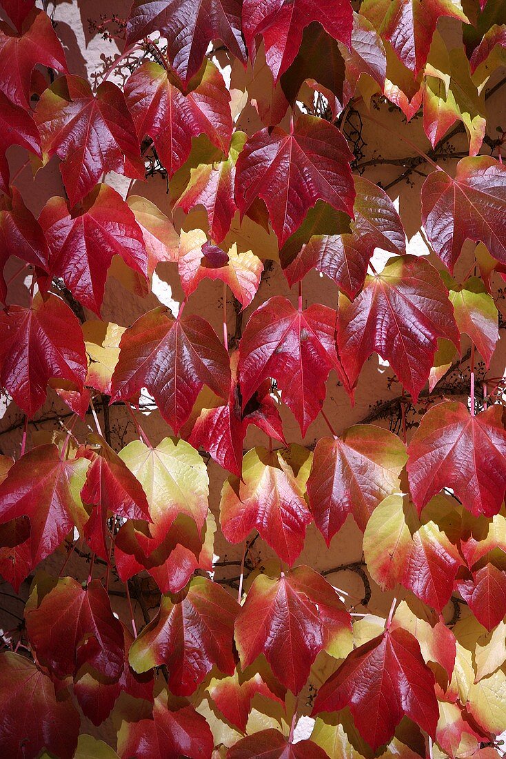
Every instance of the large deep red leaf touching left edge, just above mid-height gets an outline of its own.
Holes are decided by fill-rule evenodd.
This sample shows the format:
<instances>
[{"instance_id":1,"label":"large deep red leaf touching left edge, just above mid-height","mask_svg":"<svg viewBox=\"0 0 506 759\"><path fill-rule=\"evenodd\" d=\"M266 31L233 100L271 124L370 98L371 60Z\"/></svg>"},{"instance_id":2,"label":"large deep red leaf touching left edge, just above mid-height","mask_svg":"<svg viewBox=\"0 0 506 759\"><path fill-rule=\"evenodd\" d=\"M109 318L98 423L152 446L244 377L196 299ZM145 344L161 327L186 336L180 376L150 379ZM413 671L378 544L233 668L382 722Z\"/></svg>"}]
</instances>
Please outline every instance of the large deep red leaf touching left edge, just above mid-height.
<instances>
[{"instance_id":1,"label":"large deep red leaf touching left edge, just above mid-height","mask_svg":"<svg viewBox=\"0 0 506 759\"><path fill-rule=\"evenodd\" d=\"M52 378L77 389L86 378L83 332L74 313L55 295L40 294L31 308L11 306L0 315L0 379L17 405L33 417Z\"/></svg>"}]
</instances>

